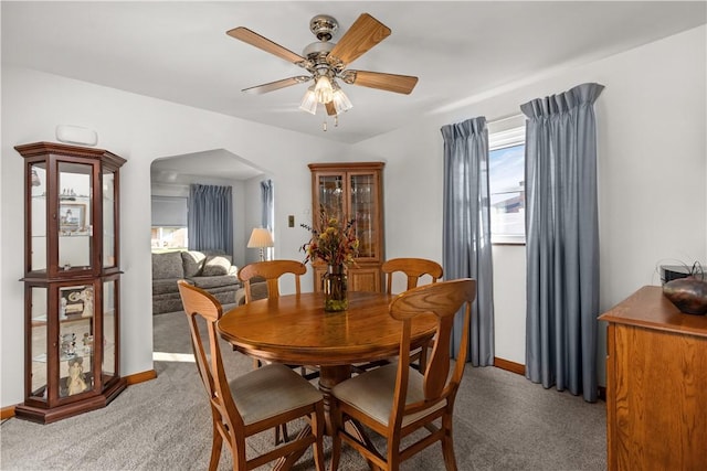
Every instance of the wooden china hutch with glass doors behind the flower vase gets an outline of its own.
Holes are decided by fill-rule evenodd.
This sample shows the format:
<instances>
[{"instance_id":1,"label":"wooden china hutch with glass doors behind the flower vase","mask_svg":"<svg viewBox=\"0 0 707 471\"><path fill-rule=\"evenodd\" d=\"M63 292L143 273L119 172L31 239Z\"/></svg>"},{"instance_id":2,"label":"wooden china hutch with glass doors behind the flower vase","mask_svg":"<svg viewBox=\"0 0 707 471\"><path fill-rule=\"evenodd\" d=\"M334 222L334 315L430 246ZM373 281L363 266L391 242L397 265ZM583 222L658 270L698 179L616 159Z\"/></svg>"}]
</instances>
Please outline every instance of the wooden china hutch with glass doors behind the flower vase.
<instances>
[{"instance_id":1,"label":"wooden china hutch with glass doors behind the flower vase","mask_svg":"<svg viewBox=\"0 0 707 471\"><path fill-rule=\"evenodd\" d=\"M324 207L339 221L356 220L359 254L348 268L349 291L381 291L384 260L383 162L310 163L312 216ZM314 290L321 290L326 265L313 264Z\"/></svg>"}]
</instances>

